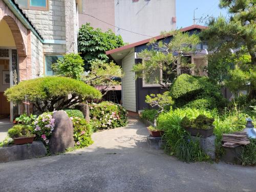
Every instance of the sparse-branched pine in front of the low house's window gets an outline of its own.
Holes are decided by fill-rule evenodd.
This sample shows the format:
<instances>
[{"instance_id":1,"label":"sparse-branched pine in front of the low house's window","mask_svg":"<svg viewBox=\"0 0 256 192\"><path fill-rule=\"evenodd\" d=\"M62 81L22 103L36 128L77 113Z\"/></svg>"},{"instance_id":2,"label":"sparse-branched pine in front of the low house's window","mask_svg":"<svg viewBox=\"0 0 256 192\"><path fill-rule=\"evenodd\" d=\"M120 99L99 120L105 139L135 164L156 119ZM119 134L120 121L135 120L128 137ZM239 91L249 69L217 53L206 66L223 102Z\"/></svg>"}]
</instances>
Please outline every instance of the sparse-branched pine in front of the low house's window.
<instances>
[{"instance_id":1,"label":"sparse-branched pine in front of the low house's window","mask_svg":"<svg viewBox=\"0 0 256 192\"><path fill-rule=\"evenodd\" d=\"M196 45L199 44L199 37L196 34L183 33L180 30L164 32L163 36L173 36L173 39L166 43L165 39L157 41L152 39L148 44L152 46L152 50L143 50L139 57L142 62L133 66L136 77L151 78L152 74L162 70L163 78L155 77L155 80L168 87L166 82L170 81L170 77L177 76L182 67L192 68L194 65L187 63L185 59L181 59L184 53L193 53ZM163 82L163 83L161 83Z\"/></svg>"}]
</instances>

